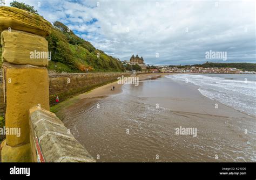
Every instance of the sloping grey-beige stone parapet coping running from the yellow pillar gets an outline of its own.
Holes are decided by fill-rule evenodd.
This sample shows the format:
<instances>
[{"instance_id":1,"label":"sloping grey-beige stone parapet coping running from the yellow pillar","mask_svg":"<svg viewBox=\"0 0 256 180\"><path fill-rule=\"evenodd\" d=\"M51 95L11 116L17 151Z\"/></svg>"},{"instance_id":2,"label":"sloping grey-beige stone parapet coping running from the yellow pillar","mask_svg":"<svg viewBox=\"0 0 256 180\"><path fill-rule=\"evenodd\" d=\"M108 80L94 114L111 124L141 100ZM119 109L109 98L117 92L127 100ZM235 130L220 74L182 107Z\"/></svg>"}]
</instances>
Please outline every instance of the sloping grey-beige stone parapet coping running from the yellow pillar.
<instances>
[{"instance_id":1,"label":"sloping grey-beige stone parapet coping running from the yellow pillar","mask_svg":"<svg viewBox=\"0 0 256 180\"><path fill-rule=\"evenodd\" d=\"M34 162L96 162L54 113L33 107L29 114Z\"/></svg>"}]
</instances>

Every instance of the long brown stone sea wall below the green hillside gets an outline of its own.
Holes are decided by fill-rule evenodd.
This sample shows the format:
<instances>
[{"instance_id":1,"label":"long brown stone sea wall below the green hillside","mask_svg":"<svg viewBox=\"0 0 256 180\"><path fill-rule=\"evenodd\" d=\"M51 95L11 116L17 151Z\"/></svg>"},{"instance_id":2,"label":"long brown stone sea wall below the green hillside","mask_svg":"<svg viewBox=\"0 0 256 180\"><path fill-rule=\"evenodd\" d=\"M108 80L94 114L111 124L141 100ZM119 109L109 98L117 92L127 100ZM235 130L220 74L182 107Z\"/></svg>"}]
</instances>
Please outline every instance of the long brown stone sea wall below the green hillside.
<instances>
[{"instance_id":1,"label":"long brown stone sea wall below the green hillside","mask_svg":"<svg viewBox=\"0 0 256 180\"><path fill-rule=\"evenodd\" d=\"M116 81L119 76L130 73L87 73L87 74L49 74L50 105L55 104L58 95L60 102L89 91L100 85ZM0 76L0 116L5 113L2 76Z\"/></svg>"}]
</instances>

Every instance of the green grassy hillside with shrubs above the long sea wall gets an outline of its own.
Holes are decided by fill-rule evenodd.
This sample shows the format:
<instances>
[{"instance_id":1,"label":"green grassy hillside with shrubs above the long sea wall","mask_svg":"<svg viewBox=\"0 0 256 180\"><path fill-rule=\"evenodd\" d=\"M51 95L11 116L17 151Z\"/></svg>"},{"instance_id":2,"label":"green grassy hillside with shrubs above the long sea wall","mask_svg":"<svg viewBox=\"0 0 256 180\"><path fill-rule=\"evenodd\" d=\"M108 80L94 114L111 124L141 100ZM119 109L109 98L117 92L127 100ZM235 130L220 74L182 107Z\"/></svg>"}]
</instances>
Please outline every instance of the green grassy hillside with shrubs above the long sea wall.
<instances>
[{"instance_id":1,"label":"green grassy hillside with shrubs above the long sea wall","mask_svg":"<svg viewBox=\"0 0 256 180\"><path fill-rule=\"evenodd\" d=\"M93 72L124 71L123 64L112 56L93 47L90 42L77 37L67 26L56 21L49 37L49 51L52 59L49 69L66 71L69 73L84 72L86 69Z\"/></svg>"}]
</instances>

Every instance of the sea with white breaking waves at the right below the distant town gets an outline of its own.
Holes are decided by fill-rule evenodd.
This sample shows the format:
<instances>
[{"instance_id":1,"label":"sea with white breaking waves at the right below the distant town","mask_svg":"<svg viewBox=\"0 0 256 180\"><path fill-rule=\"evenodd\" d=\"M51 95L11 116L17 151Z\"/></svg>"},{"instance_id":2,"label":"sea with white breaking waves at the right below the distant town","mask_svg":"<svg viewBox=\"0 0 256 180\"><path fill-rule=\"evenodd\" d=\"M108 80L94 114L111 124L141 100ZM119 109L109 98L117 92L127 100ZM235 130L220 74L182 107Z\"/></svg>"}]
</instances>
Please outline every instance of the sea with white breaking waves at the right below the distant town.
<instances>
[{"instance_id":1,"label":"sea with white breaking waves at the right below the distant town","mask_svg":"<svg viewBox=\"0 0 256 180\"><path fill-rule=\"evenodd\" d=\"M207 98L256 117L255 74L175 74L166 77L193 83Z\"/></svg>"}]
</instances>

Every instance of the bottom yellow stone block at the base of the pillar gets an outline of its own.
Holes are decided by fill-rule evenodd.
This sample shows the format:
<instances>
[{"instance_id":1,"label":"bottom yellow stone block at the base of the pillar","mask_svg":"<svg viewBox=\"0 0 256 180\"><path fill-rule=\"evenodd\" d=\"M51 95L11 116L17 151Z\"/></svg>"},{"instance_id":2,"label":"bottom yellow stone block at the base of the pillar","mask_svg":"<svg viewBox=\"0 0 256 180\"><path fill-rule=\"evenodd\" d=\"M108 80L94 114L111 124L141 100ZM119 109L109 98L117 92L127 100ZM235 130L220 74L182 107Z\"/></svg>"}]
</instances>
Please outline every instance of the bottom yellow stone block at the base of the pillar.
<instances>
[{"instance_id":1,"label":"bottom yellow stone block at the base of the pillar","mask_svg":"<svg viewBox=\"0 0 256 180\"><path fill-rule=\"evenodd\" d=\"M4 140L2 143L2 162L31 162L30 143L18 147L6 145Z\"/></svg>"}]
</instances>

